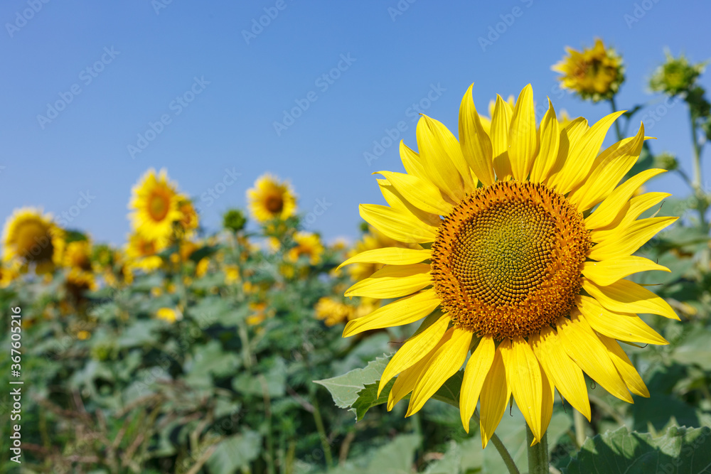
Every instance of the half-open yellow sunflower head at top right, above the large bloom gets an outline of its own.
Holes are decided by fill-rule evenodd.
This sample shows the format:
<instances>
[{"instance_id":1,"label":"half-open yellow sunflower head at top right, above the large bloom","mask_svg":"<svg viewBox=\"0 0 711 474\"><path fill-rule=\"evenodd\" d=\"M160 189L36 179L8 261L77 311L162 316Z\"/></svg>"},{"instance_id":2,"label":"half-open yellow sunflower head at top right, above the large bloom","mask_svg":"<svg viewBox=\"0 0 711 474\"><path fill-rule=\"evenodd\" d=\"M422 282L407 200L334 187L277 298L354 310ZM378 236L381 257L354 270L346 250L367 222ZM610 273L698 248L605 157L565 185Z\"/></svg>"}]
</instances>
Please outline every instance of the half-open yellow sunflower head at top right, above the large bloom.
<instances>
[{"instance_id":1,"label":"half-open yellow sunflower head at top right, above the large bloom","mask_svg":"<svg viewBox=\"0 0 711 474\"><path fill-rule=\"evenodd\" d=\"M624 82L622 58L614 48L605 48L602 40L596 38L592 48L565 49L568 55L551 68L562 73L559 80L563 89L573 90L582 99L593 102L614 97Z\"/></svg>"}]
</instances>

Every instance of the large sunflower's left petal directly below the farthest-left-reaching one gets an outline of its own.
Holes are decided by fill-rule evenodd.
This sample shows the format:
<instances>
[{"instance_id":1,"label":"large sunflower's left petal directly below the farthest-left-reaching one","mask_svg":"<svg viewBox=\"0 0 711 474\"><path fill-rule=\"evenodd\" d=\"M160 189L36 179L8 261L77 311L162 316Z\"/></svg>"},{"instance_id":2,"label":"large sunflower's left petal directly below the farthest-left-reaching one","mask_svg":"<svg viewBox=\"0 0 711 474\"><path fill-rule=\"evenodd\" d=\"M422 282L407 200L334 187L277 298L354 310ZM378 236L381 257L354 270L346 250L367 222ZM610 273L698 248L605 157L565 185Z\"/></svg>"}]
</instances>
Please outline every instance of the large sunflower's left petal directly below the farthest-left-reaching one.
<instances>
[{"instance_id":1,"label":"large sunflower's left petal directly below the farthest-left-reaching one","mask_svg":"<svg viewBox=\"0 0 711 474\"><path fill-rule=\"evenodd\" d=\"M388 265L368 278L358 281L346 291L346 296L368 298L399 298L432 284L429 265Z\"/></svg>"}]
</instances>

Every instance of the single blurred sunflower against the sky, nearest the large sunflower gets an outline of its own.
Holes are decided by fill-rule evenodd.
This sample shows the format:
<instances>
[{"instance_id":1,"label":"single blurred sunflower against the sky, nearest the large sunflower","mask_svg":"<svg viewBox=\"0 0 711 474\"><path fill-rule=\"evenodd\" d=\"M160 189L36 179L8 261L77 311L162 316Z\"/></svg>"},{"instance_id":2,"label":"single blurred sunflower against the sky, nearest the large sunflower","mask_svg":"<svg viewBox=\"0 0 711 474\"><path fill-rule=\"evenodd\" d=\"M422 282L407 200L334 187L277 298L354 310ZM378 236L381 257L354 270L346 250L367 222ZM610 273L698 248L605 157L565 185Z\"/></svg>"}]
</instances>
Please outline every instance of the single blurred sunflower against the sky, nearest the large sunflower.
<instances>
[{"instance_id":1,"label":"single blurred sunflower against the sky, nearest the large sunflower","mask_svg":"<svg viewBox=\"0 0 711 474\"><path fill-rule=\"evenodd\" d=\"M269 173L257 178L255 187L247 190L247 200L257 222L286 219L296 212L296 196L292 187Z\"/></svg>"}]
</instances>

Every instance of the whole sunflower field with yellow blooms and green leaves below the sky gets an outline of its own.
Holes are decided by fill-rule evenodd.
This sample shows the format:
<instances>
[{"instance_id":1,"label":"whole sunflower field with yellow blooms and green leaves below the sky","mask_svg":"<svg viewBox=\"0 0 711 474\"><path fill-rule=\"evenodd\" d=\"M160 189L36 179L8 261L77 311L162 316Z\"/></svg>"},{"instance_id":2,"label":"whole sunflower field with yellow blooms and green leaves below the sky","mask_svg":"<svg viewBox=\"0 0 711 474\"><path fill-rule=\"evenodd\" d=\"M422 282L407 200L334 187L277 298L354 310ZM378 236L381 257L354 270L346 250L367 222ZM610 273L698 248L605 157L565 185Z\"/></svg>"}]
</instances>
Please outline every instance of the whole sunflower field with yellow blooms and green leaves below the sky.
<instances>
[{"instance_id":1,"label":"whole sunflower field with yellow blooms and green leaves below the sky","mask_svg":"<svg viewBox=\"0 0 711 474\"><path fill-rule=\"evenodd\" d=\"M405 173L373 177L387 205L360 205L355 242L305 230L271 173L208 233L148 169L118 247L18 208L0 470L711 473L704 67L668 55L648 85L688 109L693 156L618 108L602 40L552 66L609 104L594 124L530 85L479 108L470 87L458 130L423 114ZM665 172L688 194L645 189Z\"/></svg>"}]
</instances>

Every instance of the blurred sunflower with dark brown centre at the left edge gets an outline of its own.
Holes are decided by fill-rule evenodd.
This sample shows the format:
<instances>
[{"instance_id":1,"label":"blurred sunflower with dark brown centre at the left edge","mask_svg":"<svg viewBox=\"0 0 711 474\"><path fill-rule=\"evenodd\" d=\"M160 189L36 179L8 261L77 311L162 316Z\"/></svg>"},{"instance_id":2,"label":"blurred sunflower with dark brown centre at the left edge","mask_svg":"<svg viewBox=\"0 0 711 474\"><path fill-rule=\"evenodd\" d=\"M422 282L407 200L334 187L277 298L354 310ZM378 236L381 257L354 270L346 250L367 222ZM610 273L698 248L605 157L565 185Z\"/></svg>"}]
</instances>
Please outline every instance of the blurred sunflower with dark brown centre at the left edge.
<instances>
[{"instance_id":1,"label":"blurred sunflower with dark brown centre at the left edge","mask_svg":"<svg viewBox=\"0 0 711 474\"><path fill-rule=\"evenodd\" d=\"M62 262L65 232L41 209L16 209L3 230L3 261L35 264L38 274L53 271Z\"/></svg>"}]
</instances>

